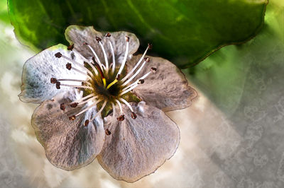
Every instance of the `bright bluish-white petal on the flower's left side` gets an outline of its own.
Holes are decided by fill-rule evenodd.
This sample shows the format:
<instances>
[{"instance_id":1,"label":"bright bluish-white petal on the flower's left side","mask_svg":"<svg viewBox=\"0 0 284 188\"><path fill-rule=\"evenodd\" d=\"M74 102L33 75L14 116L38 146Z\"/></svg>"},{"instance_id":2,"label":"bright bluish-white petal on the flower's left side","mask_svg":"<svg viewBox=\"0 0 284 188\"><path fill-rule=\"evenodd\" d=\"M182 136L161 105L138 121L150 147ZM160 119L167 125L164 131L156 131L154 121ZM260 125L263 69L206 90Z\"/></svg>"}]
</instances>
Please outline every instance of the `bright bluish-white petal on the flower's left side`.
<instances>
[{"instance_id":1,"label":"bright bluish-white petal on the flower's left side","mask_svg":"<svg viewBox=\"0 0 284 188\"><path fill-rule=\"evenodd\" d=\"M40 103L53 98L60 92L66 92L70 88L61 87L56 89L50 83L50 78L70 78L85 79L86 77L75 71L68 71L65 68L67 61L63 58L56 58L55 53L60 52L67 57L71 57L74 52L67 51L64 45L55 45L28 59L23 66L22 86L20 99L23 102ZM80 60L80 56L75 56Z\"/></svg>"}]
</instances>

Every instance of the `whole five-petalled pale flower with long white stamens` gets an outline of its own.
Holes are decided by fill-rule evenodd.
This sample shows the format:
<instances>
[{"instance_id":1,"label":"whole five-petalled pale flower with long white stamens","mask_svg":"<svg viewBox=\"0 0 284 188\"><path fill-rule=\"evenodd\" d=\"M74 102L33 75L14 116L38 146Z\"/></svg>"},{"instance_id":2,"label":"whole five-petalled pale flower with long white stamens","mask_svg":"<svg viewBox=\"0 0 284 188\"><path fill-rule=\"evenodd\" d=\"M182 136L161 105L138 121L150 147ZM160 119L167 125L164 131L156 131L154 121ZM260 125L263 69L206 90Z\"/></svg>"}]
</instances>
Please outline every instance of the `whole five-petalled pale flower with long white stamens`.
<instances>
[{"instance_id":1,"label":"whole five-petalled pale flower with long white stamens","mask_svg":"<svg viewBox=\"0 0 284 188\"><path fill-rule=\"evenodd\" d=\"M55 45L28 59L20 99L40 103L32 117L50 163L64 170L97 157L117 180L135 182L178 148L180 132L165 112L197 96L181 71L159 57L134 56L127 32L71 25L69 47Z\"/></svg>"}]
</instances>

